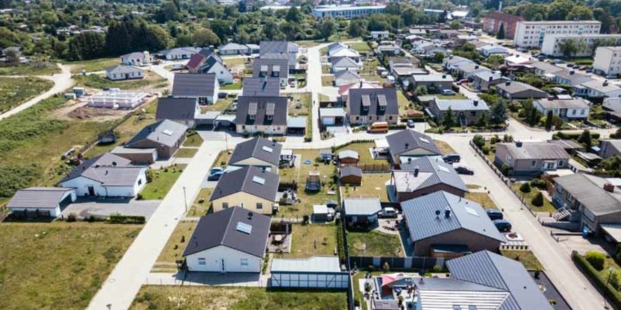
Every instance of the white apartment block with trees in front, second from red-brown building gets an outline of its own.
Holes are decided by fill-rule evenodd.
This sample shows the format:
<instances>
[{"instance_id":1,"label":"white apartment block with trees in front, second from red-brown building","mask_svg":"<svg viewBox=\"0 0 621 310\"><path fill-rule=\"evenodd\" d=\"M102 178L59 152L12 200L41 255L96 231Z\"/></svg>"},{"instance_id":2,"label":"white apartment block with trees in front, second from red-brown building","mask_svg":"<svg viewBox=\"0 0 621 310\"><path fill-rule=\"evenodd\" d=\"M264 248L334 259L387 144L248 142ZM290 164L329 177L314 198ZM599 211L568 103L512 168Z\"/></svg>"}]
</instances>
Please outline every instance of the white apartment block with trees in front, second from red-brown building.
<instances>
[{"instance_id":1,"label":"white apartment block with trees in front, second from red-brown building","mask_svg":"<svg viewBox=\"0 0 621 310\"><path fill-rule=\"evenodd\" d=\"M563 56L561 49L562 42L573 40L576 43L584 45L578 52L573 54L576 57L593 56L593 43L598 40L615 39L617 43L621 42L621 34L551 34L544 37L541 45L541 53L549 56Z\"/></svg>"}]
</instances>

